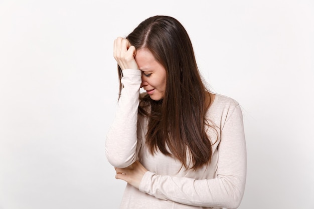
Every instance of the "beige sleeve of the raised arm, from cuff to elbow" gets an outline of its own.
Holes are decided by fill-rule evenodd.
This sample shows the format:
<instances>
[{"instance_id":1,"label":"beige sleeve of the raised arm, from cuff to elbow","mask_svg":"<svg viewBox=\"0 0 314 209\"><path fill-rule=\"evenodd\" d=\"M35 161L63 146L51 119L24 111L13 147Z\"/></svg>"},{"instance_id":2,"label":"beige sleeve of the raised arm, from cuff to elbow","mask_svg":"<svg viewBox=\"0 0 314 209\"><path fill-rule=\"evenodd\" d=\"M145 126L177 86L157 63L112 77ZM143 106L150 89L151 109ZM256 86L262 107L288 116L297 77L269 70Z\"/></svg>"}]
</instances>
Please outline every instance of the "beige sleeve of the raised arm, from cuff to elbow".
<instances>
[{"instance_id":1,"label":"beige sleeve of the raised arm, from cuff to elbow","mask_svg":"<svg viewBox=\"0 0 314 209\"><path fill-rule=\"evenodd\" d=\"M136 130L141 71L123 70L121 83L123 88L115 119L109 128L105 144L107 159L115 167L127 167L137 157Z\"/></svg>"}]
</instances>

